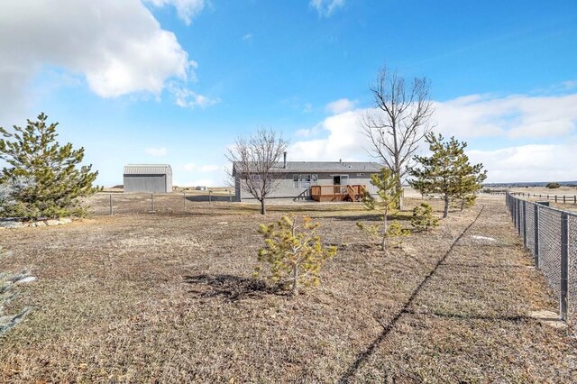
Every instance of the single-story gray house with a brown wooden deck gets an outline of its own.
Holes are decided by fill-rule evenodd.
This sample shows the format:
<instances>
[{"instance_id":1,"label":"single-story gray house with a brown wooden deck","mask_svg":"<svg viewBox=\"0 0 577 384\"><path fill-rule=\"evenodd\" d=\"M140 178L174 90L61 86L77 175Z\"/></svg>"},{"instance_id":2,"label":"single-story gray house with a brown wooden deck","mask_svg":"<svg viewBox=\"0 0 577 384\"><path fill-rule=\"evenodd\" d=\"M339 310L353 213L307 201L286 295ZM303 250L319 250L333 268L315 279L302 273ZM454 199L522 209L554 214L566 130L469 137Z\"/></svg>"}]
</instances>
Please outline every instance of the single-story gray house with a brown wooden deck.
<instances>
[{"instance_id":1,"label":"single-story gray house with a brown wooden deck","mask_svg":"<svg viewBox=\"0 0 577 384\"><path fill-rule=\"evenodd\" d=\"M286 159L286 158L285 158ZM279 184L267 197L292 201L360 201L365 191L374 195L371 174L380 172L376 162L359 161L283 161L273 169ZM233 164L236 201L256 199L246 190L238 164Z\"/></svg>"}]
</instances>

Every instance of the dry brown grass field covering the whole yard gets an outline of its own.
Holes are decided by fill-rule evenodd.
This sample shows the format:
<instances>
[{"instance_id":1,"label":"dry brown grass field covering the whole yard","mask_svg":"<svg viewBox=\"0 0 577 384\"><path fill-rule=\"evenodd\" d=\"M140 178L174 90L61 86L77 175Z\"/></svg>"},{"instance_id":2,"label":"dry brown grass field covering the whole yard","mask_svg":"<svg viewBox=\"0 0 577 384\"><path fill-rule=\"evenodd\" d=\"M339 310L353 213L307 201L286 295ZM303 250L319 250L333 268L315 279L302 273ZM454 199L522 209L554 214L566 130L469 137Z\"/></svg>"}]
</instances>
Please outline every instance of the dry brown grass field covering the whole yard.
<instances>
[{"instance_id":1,"label":"dry brown grass field covering the whole yard","mask_svg":"<svg viewBox=\"0 0 577 384\"><path fill-rule=\"evenodd\" d=\"M106 216L106 198L73 224L0 231L2 269L38 278L5 308L33 309L0 337L0 382L577 381L572 331L531 315L557 305L502 197L386 256L356 228L377 220L359 204L262 217L160 198L149 214L142 197ZM258 224L289 210L339 247L298 297L251 279Z\"/></svg>"}]
</instances>

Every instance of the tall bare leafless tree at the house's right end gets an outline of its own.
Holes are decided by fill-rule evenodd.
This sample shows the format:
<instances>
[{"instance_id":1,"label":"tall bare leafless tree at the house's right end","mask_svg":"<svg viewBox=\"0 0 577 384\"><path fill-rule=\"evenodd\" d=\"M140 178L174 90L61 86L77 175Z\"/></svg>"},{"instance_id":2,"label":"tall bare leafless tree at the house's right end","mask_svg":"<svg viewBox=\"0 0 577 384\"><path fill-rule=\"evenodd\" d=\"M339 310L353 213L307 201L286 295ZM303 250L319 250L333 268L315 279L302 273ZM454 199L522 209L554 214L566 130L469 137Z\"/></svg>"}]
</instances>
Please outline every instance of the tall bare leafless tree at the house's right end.
<instances>
[{"instance_id":1,"label":"tall bare leafless tree at the house's right end","mask_svg":"<svg viewBox=\"0 0 577 384\"><path fill-rule=\"evenodd\" d=\"M434 106L429 89L428 79L415 78L408 87L405 78L387 67L380 69L371 86L377 111L362 116L362 133L371 141L371 154L393 171L398 191L418 142L431 131L429 118ZM403 208L401 194L397 206Z\"/></svg>"}]
</instances>

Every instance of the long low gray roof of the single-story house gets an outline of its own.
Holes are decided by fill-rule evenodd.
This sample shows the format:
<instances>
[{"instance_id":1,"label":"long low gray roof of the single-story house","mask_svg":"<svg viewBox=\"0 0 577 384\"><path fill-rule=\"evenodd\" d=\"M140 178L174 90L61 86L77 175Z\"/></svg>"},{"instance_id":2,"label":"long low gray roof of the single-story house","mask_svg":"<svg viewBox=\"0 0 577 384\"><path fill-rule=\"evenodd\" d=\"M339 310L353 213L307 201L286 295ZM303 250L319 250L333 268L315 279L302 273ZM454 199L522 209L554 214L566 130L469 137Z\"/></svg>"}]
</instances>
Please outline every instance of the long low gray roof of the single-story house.
<instances>
[{"instance_id":1,"label":"long low gray roof of the single-story house","mask_svg":"<svg viewBox=\"0 0 577 384\"><path fill-rule=\"evenodd\" d=\"M379 172L380 169L382 165L370 161L287 161L286 168L283 162L278 162L273 172Z\"/></svg>"}]
</instances>

